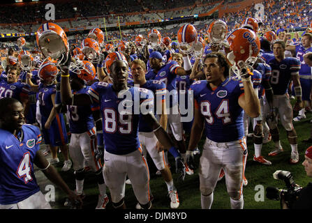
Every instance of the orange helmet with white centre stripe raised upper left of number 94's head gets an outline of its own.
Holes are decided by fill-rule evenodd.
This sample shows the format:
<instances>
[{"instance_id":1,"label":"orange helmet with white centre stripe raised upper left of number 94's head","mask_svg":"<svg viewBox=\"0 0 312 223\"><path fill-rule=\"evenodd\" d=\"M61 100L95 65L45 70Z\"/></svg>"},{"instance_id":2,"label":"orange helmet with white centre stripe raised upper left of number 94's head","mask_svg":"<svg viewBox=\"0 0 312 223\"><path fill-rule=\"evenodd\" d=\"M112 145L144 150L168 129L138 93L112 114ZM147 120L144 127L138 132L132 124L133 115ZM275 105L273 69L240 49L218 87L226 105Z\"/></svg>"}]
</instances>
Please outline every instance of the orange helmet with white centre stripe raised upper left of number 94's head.
<instances>
[{"instance_id":1,"label":"orange helmet with white centre stripe raised upper left of number 94's head","mask_svg":"<svg viewBox=\"0 0 312 223\"><path fill-rule=\"evenodd\" d=\"M192 24L185 24L181 26L178 31L178 44L184 54L193 53L193 44L196 43L198 33ZM186 49L181 49L186 47Z\"/></svg>"}]
</instances>

